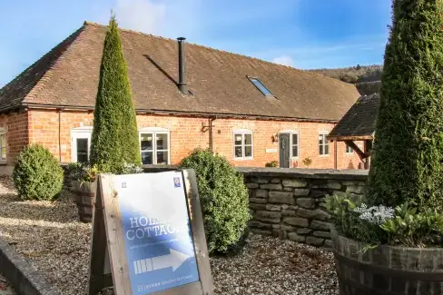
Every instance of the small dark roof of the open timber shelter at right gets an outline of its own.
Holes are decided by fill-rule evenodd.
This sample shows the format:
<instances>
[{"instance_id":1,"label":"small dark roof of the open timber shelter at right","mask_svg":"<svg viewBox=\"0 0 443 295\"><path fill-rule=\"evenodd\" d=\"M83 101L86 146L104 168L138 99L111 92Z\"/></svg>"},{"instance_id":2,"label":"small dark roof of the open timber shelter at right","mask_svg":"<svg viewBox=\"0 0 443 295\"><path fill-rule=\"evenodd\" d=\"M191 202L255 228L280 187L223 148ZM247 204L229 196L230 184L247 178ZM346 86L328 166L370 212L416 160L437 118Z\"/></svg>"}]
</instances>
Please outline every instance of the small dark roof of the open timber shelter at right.
<instances>
[{"instance_id":1,"label":"small dark roof of the open timber shelter at right","mask_svg":"<svg viewBox=\"0 0 443 295\"><path fill-rule=\"evenodd\" d=\"M361 96L335 125L328 138L373 136L378 109L379 93Z\"/></svg>"}]
</instances>

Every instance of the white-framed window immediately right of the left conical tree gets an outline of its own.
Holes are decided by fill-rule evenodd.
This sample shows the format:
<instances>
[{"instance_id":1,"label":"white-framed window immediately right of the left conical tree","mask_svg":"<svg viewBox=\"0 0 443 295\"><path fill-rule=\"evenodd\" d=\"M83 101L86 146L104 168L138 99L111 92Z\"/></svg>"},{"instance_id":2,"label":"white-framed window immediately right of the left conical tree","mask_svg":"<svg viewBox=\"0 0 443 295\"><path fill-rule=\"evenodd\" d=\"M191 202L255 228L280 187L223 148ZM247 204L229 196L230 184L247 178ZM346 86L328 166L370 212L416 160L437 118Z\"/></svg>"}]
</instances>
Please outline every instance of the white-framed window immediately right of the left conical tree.
<instances>
[{"instance_id":1,"label":"white-framed window immediately right of the left conical tree","mask_svg":"<svg viewBox=\"0 0 443 295\"><path fill-rule=\"evenodd\" d=\"M170 132L160 127L139 130L142 163L169 164L171 161Z\"/></svg>"}]
</instances>

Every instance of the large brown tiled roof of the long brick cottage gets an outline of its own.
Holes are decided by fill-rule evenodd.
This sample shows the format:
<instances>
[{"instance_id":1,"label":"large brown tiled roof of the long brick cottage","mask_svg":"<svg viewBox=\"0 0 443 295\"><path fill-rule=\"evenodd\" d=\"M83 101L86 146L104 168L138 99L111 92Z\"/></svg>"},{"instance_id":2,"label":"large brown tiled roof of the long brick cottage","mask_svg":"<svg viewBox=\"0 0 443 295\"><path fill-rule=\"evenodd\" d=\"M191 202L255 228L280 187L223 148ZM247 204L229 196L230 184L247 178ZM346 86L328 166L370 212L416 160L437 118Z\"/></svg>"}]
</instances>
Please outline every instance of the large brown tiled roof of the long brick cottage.
<instances>
[{"instance_id":1,"label":"large brown tiled roof of the long brick cottage","mask_svg":"<svg viewBox=\"0 0 443 295\"><path fill-rule=\"evenodd\" d=\"M106 29L85 23L0 91L0 110L18 103L94 107ZM359 97L352 84L196 44L185 45L193 95L183 95L176 40L122 29L121 36L138 110L338 121Z\"/></svg>"}]
</instances>

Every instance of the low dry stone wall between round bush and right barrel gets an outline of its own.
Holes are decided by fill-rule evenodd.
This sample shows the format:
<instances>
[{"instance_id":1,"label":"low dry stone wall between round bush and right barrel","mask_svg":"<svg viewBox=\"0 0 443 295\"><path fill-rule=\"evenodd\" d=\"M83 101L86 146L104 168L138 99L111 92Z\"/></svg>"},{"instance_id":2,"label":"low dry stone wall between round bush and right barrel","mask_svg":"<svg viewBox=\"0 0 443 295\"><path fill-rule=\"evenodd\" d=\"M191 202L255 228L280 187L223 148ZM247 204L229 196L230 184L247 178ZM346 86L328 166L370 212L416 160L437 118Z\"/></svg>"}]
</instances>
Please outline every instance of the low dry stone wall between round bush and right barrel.
<instances>
[{"instance_id":1,"label":"low dry stone wall between round bush and right barrel","mask_svg":"<svg viewBox=\"0 0 443 295\"><path fill-rule=\"evenodd\" d=\"M366 190L368 172L281 168L239 168L250 192L251 231L330 247L325 196Z\"/></svg>"}]
</instances>

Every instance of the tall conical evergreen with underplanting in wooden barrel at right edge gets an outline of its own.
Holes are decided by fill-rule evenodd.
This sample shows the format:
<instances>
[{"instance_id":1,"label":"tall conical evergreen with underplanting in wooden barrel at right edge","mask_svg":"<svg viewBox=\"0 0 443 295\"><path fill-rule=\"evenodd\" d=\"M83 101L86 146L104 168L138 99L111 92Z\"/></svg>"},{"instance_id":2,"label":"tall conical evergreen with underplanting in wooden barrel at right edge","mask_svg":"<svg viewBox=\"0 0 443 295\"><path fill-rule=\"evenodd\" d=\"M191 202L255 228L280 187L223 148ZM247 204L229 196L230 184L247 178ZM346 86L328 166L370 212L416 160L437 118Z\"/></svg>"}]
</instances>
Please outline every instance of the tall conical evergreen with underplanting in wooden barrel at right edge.
<instances>
[{"instance_id":1,"label":"tall conical evergreen with underplanting in wooden barrel at right edge","mask_svg":"<svg viewBox=\"0 0 443 295\"><path fill-rule=\"evenodd\" d=\"M327 199L342 295L443 294L443 5L392 10L368 192Z\"/></svg>"}]
</instances>

